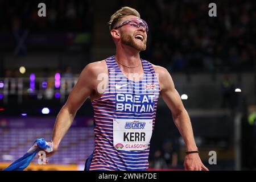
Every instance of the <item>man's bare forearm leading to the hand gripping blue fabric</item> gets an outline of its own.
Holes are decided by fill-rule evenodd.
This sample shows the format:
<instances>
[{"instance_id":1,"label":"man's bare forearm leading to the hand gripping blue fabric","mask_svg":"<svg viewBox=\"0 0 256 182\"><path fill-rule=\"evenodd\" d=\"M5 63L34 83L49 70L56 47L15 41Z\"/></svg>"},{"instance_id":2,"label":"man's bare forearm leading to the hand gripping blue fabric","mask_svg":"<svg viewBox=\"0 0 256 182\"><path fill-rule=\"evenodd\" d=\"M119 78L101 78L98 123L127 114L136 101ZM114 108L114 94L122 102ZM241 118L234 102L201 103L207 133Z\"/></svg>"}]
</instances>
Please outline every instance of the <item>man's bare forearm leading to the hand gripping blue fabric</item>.
<instances>
[{"instance_id":1,"label":"man's bare forearm leading to the hand gripping blue fabric","mask_svg":"<svg viewBox=\"0 0 256 182\"><path fill-rule=\"evenodd\" d=\"M67 133L69 127L72 125L75 114L72 114L67 107L63 107L57 115L55 126L53 129L52 142L57 148L61 139Z\"/></svg>"}]
</instances>

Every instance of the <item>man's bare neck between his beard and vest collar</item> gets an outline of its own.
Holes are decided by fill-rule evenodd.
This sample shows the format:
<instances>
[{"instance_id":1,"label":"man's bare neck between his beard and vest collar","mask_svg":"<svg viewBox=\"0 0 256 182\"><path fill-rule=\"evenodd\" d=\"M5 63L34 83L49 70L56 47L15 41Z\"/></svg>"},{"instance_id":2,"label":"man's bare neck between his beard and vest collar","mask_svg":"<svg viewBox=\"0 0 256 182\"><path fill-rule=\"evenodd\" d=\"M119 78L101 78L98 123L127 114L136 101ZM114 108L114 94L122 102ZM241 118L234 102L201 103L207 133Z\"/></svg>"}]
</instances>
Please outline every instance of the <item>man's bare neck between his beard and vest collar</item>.
<instances>
[{"instance_id":1,"label":"man's bare neck between his beard and vest collar","mask_svg":"<svg viewBox=\"0 0 256 182\"><path fill-rule=\"evenodd\" d=\"M115 57L119 63L128 67L136 67L141 63L139 51L131 48L130 46L122 45L117 46L115 50Z\"/></svg>"}]
</instances>

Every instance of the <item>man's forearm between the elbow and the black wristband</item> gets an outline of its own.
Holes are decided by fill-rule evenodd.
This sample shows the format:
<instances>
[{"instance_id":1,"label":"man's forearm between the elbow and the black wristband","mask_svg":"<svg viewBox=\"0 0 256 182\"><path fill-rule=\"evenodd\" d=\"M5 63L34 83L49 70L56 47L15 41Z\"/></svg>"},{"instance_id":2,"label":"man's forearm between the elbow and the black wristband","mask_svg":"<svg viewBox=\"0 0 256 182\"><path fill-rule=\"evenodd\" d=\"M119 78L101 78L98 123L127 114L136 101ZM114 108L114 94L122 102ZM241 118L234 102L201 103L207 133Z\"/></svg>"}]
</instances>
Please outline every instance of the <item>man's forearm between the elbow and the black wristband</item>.
<instances>
[{"instance_id":1,"label":"man's forearm between the elbow and the black wristband","mask_svg":"<svg viewBox=\"0 0 256 182\"><path fill-rule=\"evenodd\" d=\"M187 147L187 151L197 150L196 142L193 136L193 130L191 121L189 119L189 115L185 109L180 111L179 114L173 115L175 125L179 130L185 145Z\"/></svg>"}]
</instances>

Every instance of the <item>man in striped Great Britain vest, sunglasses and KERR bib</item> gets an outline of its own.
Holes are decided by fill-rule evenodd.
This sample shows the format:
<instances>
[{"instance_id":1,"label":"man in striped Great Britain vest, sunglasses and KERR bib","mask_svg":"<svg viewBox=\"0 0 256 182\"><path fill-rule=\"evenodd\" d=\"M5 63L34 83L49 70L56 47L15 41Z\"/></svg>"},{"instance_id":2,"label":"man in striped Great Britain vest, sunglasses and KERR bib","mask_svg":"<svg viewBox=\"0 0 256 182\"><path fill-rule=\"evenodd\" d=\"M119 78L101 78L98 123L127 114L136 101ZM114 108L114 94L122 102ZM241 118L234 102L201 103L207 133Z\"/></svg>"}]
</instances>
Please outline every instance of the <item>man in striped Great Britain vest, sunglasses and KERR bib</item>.
<instances>
[{"instance_id":1,"label":"man in striped Great Britain vest, sunglasses and KERR bib","mask_svg":"<svg viewBox=\"0 0 256 182\"><path fill-rule=\"evenodd\" d=\"M186 170L208 170L199 158L187 111L168 71L142 60L148 26L138 11L122 7L110 18L115 56L86 65L53 129L53 152L71 126L76 111L90 97L95 147L86 170L145 170L156 104L163 97L187 146ZM103 81L102 81L103 80Z\"/></svg>"}]
</instances>

